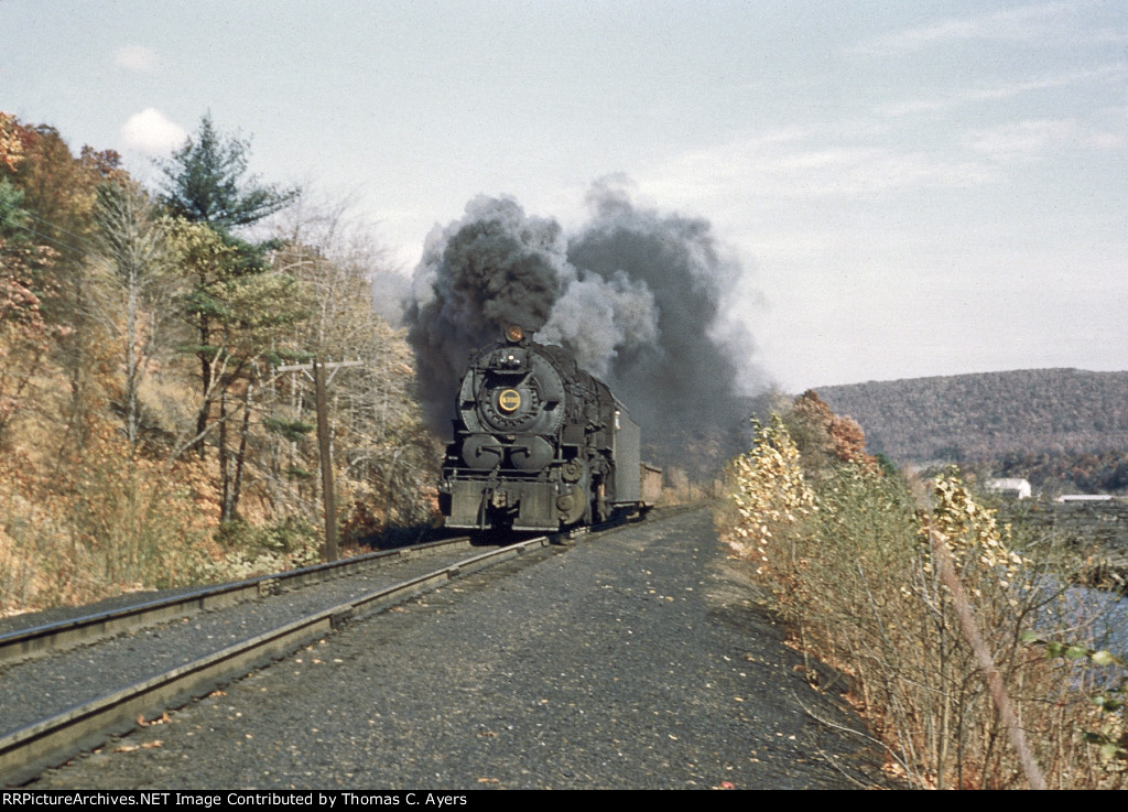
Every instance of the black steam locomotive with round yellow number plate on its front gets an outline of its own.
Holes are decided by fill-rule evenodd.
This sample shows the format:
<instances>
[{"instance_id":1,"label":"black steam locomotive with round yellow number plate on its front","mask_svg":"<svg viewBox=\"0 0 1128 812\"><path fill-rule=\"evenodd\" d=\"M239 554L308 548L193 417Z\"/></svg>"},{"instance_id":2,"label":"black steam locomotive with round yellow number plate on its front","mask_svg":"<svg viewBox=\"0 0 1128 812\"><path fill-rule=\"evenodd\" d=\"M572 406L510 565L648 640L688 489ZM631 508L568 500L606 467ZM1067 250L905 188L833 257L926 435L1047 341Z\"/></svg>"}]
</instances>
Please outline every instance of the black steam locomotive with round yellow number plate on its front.
<instances>
[{"instance_id":1,"label":"black steam locomotive with round yellow number plate on its front","mask_svg":"<svg viewBox=\"0 0 1128 812\"><path fill-rule=\"evenodd\" d=\"M455 407L439 485L449 528L555 532L643 513L661 492L607 385L517 325L470 359Z\"/></svg>"}]
</instances>

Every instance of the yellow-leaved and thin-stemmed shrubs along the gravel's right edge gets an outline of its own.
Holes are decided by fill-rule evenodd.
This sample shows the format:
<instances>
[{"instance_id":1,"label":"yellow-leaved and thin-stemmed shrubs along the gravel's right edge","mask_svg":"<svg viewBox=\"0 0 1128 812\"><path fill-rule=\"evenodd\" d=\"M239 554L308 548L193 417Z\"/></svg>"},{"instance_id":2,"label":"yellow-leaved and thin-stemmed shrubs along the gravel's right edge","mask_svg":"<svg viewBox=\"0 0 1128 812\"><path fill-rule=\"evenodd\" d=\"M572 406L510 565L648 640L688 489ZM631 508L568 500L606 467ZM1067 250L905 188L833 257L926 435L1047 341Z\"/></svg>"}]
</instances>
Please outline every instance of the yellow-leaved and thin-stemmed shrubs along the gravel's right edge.
<instances>
[{"instance_id":1,"label":"yellow-leaved and thin-stemmed shrubs along the gravel's right edge","mask_svg":"<svg viewBox=\"0 0 1128 812\"><path fill-rule=\"evenodd\" d=\"M851 699L908 780L1025 785L988 690L994 670L1050 786L1122 785L1121 762L1085 743L1085 731L1119 741L1119 729L1089 699L1109 674L1091 659L1047 657L1029 643L1038 630L1095 650L1085 642L1095 642L1086 637L1098 629L1093 612L1050 575L1051 563L1036 566L1016 551L1012 529L998 526L958 471L933 480L924 498L902 476L871 465L823 465L809 483L776 420L756 427L756 445L733 460L730 483L726 540L757 563L803 652L849 679ZM975 610L972 627L985 643L978 652L958 595L942 582L943 561L954 564ZM817 671L809 671L812 681Z\"/></svg>"}]
</instances>

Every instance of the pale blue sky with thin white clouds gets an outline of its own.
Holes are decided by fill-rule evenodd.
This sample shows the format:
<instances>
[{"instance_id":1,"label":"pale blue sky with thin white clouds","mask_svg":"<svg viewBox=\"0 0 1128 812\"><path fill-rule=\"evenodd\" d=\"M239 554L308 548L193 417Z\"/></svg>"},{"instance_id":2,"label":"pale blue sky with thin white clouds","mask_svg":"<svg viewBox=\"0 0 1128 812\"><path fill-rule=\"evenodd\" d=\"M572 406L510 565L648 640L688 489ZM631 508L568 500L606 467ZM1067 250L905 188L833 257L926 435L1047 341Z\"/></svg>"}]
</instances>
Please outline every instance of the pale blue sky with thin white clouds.
<instances>
[{"instance_id":1,"label":"pale blue sky with thin white clouds","mask_svg":"<svg viewBox=\"0 0 1128 812\"><path fill-rule=\"evenodd\" d=\"M1128 369L1128 3L0 0L0 109L138 173L205 111L404 272L510 194L708 219L785 389Z\"/></svg>"}]
</instances>

